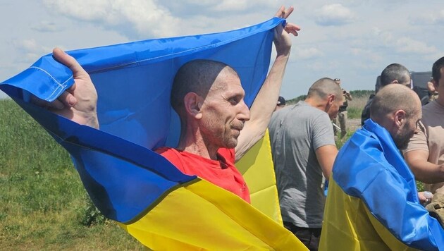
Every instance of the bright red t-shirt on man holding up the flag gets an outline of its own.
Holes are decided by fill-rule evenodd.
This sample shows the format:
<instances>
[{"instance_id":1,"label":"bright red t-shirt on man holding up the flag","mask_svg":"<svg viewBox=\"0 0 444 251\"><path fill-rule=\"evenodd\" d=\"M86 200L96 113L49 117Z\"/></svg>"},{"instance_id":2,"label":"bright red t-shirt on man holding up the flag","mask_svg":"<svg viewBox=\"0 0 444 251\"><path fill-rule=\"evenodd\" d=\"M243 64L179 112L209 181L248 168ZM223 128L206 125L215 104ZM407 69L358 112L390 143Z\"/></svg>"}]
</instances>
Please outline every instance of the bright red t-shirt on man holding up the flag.
<instances>
[{"instance_id":1,"label":"bright red t-shirt on man holding up the flag","mask_svg":"<svg viewBox=\"0 0 444 251\"><path fill-rule=\"evenodd\" d=\"M221 148L217 159L206 159L190 152L161 147L156 152L168 159L175 167L187 175L199 176L218 187L233 192L250 203L249 190L242 174L234 166L234 149Z\"/></svg>"}]
</instances>

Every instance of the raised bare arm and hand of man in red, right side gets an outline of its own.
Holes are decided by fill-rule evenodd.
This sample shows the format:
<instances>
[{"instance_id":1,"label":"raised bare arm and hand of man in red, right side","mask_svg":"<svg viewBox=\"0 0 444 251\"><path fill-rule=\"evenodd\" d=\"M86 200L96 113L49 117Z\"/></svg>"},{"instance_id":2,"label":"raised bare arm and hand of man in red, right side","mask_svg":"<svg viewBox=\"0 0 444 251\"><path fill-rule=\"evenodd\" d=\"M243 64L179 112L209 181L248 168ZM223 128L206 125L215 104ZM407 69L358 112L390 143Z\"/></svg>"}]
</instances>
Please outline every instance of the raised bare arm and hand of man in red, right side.
<instances>
[{"instance_id":1,"label":"raised bare arm and hand of man in red, right side","mask_svg":"<svg viewBox=\"0 0 444 251\"><path fill-rule=\"evenodd\" d=\"M285 9L282 6L276 16L287 18L292 11L292 7ZM235 148L236 160L240 159L245 152L264 137L265 130L276 107L285 67L290 56L291 38L288 33L297 35L299 30L300 28L292 23L287 23L285 27L278 25L274 30L273 42L277 51L276 60L249 110L250 119L245 123L244 129L238 138L238 145Z\"/></svg>"}]
</instances>

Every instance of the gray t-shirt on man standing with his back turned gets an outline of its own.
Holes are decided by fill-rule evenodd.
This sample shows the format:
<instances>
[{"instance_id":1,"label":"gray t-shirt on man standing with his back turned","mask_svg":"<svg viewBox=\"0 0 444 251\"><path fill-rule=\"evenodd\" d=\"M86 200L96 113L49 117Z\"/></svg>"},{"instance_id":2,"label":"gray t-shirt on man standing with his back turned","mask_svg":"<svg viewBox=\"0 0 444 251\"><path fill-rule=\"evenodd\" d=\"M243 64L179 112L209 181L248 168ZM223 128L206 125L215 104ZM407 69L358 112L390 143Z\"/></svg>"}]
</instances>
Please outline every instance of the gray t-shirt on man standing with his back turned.
<instances>
[{"instance_id":1,"label":"gray t-shirt on man standing with his back turned","mask_svg":"<svg viewBox=\"0 0 444 251\"><path fill-rule=\"evenodd\" d=\"M269 131L283 221L321 228L326 197L315 150L335 145L328 114L300 101L276 111Z\"/></svg>"}]
</instances>

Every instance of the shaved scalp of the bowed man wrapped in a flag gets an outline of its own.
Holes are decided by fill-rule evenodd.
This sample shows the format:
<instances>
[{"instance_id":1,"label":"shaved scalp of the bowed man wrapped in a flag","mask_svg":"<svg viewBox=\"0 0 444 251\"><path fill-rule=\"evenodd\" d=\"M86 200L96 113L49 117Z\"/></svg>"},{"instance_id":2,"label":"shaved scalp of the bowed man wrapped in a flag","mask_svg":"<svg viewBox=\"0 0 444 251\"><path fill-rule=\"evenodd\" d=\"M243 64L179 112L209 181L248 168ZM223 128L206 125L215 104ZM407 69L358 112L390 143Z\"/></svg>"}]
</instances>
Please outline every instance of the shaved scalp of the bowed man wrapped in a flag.
<instances>
[{"instance_id":1,"label":"shaved scalp of the bowed man wrapped in a flag","mask_svg":"<svg viewBox=\"0 0 444 251\"><path fill-rule=\"evenodd\" d=\"M371 102L371 119L380 122L387 114L397 110L404 110L408 116L417 114L421 110L418 95L404 85L387 85L383 87Z\"/></svg>"}]
</instances>

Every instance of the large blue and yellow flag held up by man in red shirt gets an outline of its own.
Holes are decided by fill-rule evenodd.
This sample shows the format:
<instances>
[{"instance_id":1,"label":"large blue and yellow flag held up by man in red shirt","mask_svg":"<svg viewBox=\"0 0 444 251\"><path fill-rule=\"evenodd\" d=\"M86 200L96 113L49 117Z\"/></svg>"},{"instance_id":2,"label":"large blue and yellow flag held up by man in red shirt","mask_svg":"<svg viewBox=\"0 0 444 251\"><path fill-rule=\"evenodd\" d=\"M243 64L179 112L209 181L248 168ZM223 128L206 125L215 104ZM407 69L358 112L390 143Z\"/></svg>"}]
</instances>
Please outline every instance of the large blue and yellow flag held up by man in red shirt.
<instances>
[{"instance_id":1,"label":"large blue and yellow flag held up by man in red shirt","mask_svg":"<svg viewBox=\"0 0 444 251\"><path fill-rule=\"evenodd\" d=\"M304 250L302 243L230 192L187 176L152 152L175 146L180 133L170 106L175 72L187 61L233 67L251 106L269 69L273 28L284 20L230 32L152 39L67 51L97 89L100 130L78 125L27 102L54 101L73 85L51 54L0 84L70 153L82 183L104 216L152 249Z\"/></svg>"}]
</instances>

